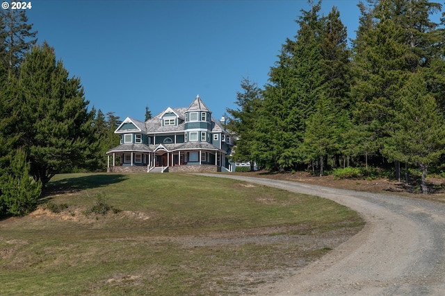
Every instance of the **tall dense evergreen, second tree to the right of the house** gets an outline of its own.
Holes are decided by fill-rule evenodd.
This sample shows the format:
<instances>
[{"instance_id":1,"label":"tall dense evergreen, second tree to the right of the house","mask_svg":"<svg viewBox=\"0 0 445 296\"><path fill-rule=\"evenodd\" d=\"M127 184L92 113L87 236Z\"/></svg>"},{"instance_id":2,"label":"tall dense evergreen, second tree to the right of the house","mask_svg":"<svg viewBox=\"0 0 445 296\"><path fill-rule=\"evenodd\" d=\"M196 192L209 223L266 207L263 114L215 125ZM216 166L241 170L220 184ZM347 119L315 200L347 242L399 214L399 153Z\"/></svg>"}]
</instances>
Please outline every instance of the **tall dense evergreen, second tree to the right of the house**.
<instances>
[{"instance_id":1,"label":"tall dense evergreen, second tree to the right of the house","mask_svg":"<svg viewBox=\"0 0 445 296\"><path fill-rule=\"evenodd\" d=\"M279 61L270 69L253 143L260 166L282 171L303 160L305 121L314 112L323 82L320 9L318 2L309 11L301 10L296 40L286 40Z\"/></svg>"}]
</instances>

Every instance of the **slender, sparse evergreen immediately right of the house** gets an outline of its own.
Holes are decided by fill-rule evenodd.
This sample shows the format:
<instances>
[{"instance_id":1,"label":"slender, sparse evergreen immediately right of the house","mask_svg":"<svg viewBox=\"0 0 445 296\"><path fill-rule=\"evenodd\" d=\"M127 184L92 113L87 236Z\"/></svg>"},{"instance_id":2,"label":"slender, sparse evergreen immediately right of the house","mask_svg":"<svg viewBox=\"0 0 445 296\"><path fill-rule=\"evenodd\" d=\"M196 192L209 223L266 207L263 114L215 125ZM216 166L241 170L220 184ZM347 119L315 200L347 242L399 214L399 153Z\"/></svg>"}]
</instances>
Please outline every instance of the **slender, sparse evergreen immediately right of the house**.
<instances>
[{"instance_id":1,"label":"slender, sparse evergreen immediately right of the house","mask_svg":"<svg viewBox=\"0 0 445 296\"><path fill-rule=\"evenodd\" d=\"M252 142L254 141L254 123L257 121L257 110L261 105L261 89L249 78L241 80L243 92L236 92L236 110L227 108L227 113L232 119L227 124L227 129L234 133L236 148L233 159L242 162L250 162L250 171L254 170Z\"/></svg>"}]
</instances>

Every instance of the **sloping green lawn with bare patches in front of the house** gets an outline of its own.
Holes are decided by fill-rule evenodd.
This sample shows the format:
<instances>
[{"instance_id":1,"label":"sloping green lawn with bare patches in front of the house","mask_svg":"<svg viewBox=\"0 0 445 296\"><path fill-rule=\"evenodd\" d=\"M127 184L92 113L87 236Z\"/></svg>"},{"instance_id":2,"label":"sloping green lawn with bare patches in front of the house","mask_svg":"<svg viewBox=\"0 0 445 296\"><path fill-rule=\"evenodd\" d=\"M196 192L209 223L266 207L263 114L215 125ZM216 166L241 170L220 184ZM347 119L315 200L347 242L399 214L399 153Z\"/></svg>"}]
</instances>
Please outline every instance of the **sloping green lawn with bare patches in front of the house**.
<instances>
[{"instance_id":1,"label":"sloping green lawn with bare patches in front of the house","mask_svg":"<svg viewBox=\"0 0 445 296\"><path fill-rule=\"evenodd\" d=\"M98 196L119 211L88 211ZM249 294L363 225L322 198L172 173L57 175L44 201L58 213L0 221L0 295Z\"/></svg>"}]
</instances>

